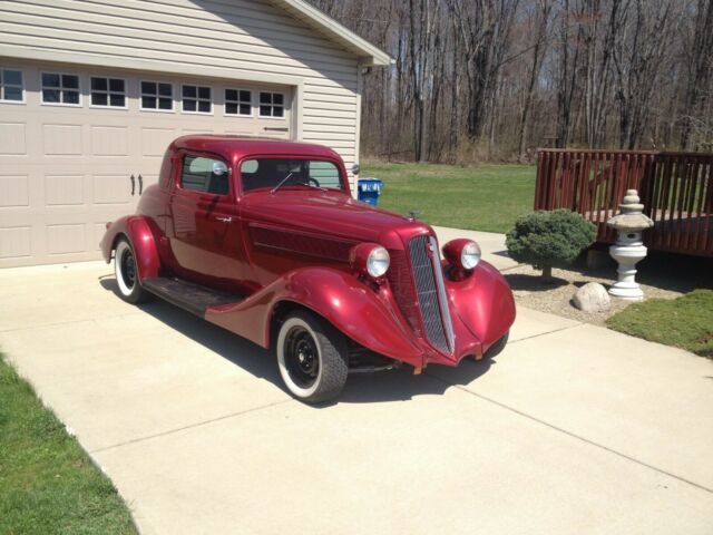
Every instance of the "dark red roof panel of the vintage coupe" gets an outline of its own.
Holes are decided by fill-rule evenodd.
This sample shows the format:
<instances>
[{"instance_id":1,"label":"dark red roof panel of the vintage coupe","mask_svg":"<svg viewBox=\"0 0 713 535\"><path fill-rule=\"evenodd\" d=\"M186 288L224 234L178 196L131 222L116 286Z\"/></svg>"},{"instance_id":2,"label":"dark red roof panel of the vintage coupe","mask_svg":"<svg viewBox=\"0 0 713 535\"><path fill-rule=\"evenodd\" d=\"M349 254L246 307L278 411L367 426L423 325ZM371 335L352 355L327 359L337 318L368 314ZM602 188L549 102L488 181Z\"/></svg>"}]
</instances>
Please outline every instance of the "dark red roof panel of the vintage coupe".
<instances>
[{"instance_id":1,"label":"dark red roof panel of the vintage coupe","mask_svg":"<svg viewBox=\"0 0 713 535\"><path fill-rule=\"evenodd\" d=\"M177 138L172 148L212 153L234 162L248 155L294 155L310 157L340 158L339 154L323 145L286 142L268 137L228 135L191 135Z\"/></svg>"}]
</instances>

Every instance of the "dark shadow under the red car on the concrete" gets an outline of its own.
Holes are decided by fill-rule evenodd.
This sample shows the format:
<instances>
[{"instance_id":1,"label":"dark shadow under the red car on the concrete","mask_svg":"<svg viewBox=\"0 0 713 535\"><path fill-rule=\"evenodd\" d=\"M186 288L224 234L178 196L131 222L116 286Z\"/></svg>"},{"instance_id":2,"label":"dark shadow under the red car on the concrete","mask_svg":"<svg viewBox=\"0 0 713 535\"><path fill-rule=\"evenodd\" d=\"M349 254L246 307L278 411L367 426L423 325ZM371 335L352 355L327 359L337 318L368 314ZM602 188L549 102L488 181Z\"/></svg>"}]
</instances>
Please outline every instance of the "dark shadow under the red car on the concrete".
<instances>
[{"instance_id":1,"label":"dark shadow under the red car on the concrete","mask_svg":"<svg viewBox=\"0 0 713 535\"><path fill-rule=\"evenodd\" d=\"M116 299L121 299L116 279L113 276L99 278L99 284L105 290L113 292ZM160 299L139 304L137 308L248 373L270 381L286 392L271 351ZM492 363L488 360L466 359L458 367L460 373L458 373L458 381L455 383L428 373L413 376L413 368L410 366L403 366L392 371L354 373L350 374L346 387L338 399L333 402L311 407L326 408L340 402L404 401L414 396L442 395L451 386L467 385L476 380L487 372Z\"/></svg>"}]
</instances>

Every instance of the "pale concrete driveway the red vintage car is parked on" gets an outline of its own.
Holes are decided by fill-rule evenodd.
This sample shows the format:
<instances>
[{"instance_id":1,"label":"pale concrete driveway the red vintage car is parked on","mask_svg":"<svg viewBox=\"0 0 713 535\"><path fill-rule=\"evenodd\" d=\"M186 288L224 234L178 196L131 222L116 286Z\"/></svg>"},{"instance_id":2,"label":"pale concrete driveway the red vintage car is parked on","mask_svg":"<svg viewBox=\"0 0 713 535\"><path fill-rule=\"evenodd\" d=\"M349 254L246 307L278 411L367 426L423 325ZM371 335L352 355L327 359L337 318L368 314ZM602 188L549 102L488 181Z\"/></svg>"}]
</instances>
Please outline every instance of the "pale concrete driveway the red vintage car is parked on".
<instances>
[{"instance_id":1,"label":"pale concrete driveway the red vintage car is parked on","mask_svg":"<svg viewBox=\"0 0 713 535\"><path fill-rule=\"evenodd\" d=\"M4 270L0 296L0 348L143 533L713 533L713 366L684 351L520 308L491 363L313 408L104 263Z\"/></svg>"}]
</instances>

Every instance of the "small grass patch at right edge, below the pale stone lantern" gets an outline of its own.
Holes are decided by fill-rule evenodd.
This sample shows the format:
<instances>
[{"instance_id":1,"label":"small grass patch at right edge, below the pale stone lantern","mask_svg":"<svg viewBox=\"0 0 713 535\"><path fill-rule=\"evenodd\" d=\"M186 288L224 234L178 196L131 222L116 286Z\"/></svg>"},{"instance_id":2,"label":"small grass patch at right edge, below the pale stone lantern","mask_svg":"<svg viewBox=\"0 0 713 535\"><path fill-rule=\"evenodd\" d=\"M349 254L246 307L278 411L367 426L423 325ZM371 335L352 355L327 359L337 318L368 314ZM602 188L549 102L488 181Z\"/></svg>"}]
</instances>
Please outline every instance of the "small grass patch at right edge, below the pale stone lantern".
<instances>
[{"instance_id":1,"label":"small grass patch at right edge, below the pale stone lantern","mask_svg":"<svg viewBox=\"0 0 713 535\"><path fill-rule=\"evenodd\" d=\"M628 305L607 320L615 331L713 358L713 290Z\"/></svg>"}]
</instances>

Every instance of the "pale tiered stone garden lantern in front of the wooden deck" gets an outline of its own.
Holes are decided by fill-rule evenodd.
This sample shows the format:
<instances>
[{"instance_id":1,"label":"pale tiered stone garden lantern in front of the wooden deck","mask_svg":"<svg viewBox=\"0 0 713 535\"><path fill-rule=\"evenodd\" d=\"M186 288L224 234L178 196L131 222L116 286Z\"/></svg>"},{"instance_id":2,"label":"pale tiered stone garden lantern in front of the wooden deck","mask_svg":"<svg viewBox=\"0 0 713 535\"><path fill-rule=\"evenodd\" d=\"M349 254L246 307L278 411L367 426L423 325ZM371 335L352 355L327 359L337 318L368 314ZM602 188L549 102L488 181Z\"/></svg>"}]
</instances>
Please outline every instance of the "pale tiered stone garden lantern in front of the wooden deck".
<instances>
[{"instance_id":1,"label":"pale tiered stone garden lantern in front of the wooden deck","mask_svg":"<svg viewBox=\"0 0 713 535\"><path fill-rule=\"evenodd\" d=\"M644 205L639 203L636 189L627 189L624 202L619 204L619 213L606 222L617 231L616 243L609 247L609 254L619 264L616 270L618 281L609 288L609 294L615 298L644 299L644 292L635 280L635 266L646 256L642 231L654 226L654 222L642 210Z\"/></svg>"}]
</instances>

